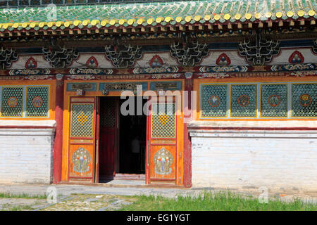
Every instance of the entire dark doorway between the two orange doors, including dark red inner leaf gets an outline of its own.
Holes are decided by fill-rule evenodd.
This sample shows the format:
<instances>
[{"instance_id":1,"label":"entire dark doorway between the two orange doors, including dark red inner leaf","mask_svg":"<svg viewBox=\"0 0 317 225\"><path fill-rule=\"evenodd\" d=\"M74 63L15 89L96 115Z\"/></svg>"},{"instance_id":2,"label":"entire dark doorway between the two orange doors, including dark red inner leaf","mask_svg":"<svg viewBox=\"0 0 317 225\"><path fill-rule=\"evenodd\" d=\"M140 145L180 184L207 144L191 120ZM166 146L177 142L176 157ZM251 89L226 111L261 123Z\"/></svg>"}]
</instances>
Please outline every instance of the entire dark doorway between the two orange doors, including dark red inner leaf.
<instances>
[{"instance_id":1,"label":"entire dark doorway between the two orange doors, including dark red inner leaf","mask_svg":"<svg viewBox=\"0 0 317 225\"><path fill-rule=\"evenodd\" d=\"M145 179L147 116L120 112L125 99L100 98L99 182L113 179ZM139 98L142 106L147 100ZM128 107L127 110L130 110Z\"/></svg>"}]
</instances>

